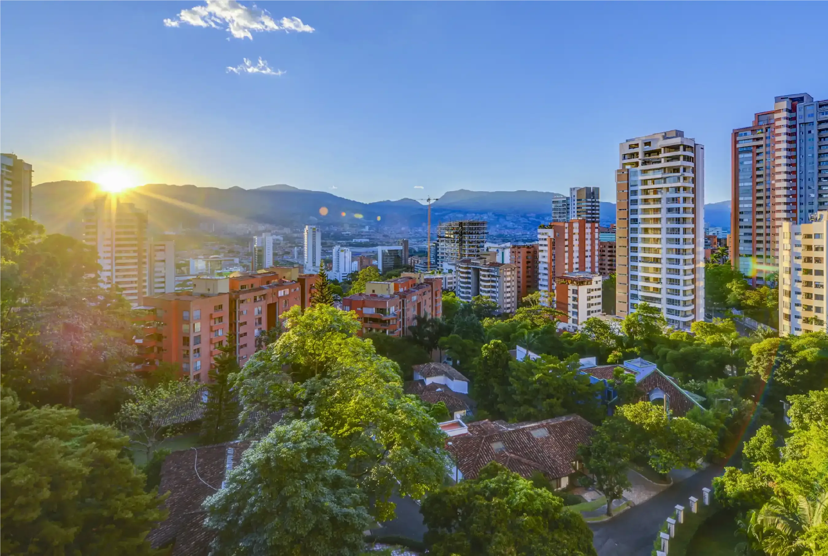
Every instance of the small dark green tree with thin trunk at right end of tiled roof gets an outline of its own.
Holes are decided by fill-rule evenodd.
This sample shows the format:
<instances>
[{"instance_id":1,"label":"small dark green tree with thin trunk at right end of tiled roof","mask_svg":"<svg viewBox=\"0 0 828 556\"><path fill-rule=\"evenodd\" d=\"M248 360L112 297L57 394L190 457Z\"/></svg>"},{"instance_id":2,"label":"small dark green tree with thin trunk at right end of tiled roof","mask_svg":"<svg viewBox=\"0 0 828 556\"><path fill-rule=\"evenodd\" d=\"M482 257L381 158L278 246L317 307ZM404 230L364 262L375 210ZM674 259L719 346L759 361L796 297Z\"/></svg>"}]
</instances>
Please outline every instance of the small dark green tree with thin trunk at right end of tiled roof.
<instances>
[{"instance_id":1,"label":"small dark green tree with thin trunk at right end of tiled roof","mask_svg":"<svg viewBox=\"0 0 828 556\"><path fill-rule=\"evenodd\" d=\"M625 488L631 486L627 478L630 447L629 425L623 419L609 418L597 429L588 446L580 446L578 453L584 465L595 477L595 488L607 498L607 515L613 515L613 502L620 500Z\"/></svg>"}]
</instances>

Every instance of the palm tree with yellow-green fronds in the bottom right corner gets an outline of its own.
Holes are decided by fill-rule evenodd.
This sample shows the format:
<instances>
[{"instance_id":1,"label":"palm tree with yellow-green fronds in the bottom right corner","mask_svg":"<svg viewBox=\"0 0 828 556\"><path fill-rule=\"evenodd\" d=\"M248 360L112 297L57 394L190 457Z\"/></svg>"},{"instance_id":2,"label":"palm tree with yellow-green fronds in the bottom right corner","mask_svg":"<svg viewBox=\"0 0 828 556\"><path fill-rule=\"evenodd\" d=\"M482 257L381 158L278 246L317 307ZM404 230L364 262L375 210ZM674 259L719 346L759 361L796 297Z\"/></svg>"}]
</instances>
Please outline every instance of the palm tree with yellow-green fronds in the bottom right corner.
<instances>
[{"instance_id":1,"label":"palm tree with yellow-green fronds in the bottom right corner","mask_svg":"<svg viewBox=\"0 0 828 556\"><path fill-rule=\"evenodd\" d=\"M769 556L816 554L816 539L810 530L823 524L828 510L828 492L820 486L814 496L774 496L759 510L757 522L763 528L762 548Z\"/></svg>"}]
</instances>

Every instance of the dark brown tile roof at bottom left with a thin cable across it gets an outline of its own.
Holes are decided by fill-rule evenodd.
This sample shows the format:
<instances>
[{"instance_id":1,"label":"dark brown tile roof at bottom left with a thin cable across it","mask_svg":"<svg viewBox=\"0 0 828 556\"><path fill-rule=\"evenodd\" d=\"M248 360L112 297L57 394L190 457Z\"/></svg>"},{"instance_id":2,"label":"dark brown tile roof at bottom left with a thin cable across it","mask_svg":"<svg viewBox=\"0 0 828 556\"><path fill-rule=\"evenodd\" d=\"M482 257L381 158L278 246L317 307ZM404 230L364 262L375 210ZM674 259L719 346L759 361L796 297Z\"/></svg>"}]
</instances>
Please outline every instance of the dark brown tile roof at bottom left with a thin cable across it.
<instances>
[{"instance_id":1,"label":"dark brown tile roof at bottom left with a thin cable across it","mask_svg":"<svg viewBox=\"0 0 828 556\"><path fill-rule=\"evenodd\" d=\"M233 448L235 467L249 446L249 442L228 442L181 450L167 456L161 466L158 491L170 492L170 497L164 502L170 515L150 531L147 538L153 548L172 546L170 556L209 554L213 534L201 525L205 519L201 503L221 488L227 468L228 448ZM198 475L195 472L196 456Z\"/></svg>"}]
</instances>

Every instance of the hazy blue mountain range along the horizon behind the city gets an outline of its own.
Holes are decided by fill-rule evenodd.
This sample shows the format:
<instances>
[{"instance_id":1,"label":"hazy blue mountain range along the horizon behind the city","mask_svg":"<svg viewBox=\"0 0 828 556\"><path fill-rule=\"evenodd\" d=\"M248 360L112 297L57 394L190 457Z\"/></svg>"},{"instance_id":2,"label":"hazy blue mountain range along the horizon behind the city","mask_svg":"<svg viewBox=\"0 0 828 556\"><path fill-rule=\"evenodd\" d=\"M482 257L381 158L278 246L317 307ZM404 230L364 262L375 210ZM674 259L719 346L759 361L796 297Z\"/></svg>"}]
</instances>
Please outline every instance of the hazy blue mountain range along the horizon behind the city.
<instances>
[{"instance_id":1,"label":"hazy blue mountain range along the horizon behind the city","mask_svg":"<svg viewBox=\"0 0 828 556\"><path fill-rule=\"evenodd\" d=\"M54 181L32 188L32 216L49 232L77 236L80 213L96 195L90 181ZM431 221L483 218L493 228L531 231L548 222L548 191L448 191L431 204ZM306 223L365 223L420 228L426 225L426 205L415 199L360 203L324 191L291 185L266 185L258 189L148 184L122 194L124 202L146 209L156 231L196 227L200 223L265 223L298 226ZM724 204L727 206L725 207ZM729 226L729 201L705 205L710 225ZM615 204L601 202L600 221L615 222Z\"/></svg>"}]
</instances>

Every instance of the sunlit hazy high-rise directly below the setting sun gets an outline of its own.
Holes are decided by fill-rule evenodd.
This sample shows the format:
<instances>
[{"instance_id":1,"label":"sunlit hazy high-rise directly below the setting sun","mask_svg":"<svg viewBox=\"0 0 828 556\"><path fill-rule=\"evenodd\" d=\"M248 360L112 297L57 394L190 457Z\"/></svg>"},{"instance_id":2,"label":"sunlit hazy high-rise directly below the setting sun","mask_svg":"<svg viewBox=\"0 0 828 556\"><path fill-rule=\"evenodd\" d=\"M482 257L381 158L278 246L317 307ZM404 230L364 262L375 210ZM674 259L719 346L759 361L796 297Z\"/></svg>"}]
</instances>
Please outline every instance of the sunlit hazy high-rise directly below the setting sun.
<instances>
[{"instance_id":1,"label":"sunlit hazy high-rise directly below the setting sun","mask_svg":"<svg viewBox=\"0 0 828 556\"><path fill-rule=\"evenodd\" d=\"M83 224L84 243L98 250L101 287L115 286L141 305L147 294L147 211L104 195L84 209Z\"/></svg>"}]
</instances>

